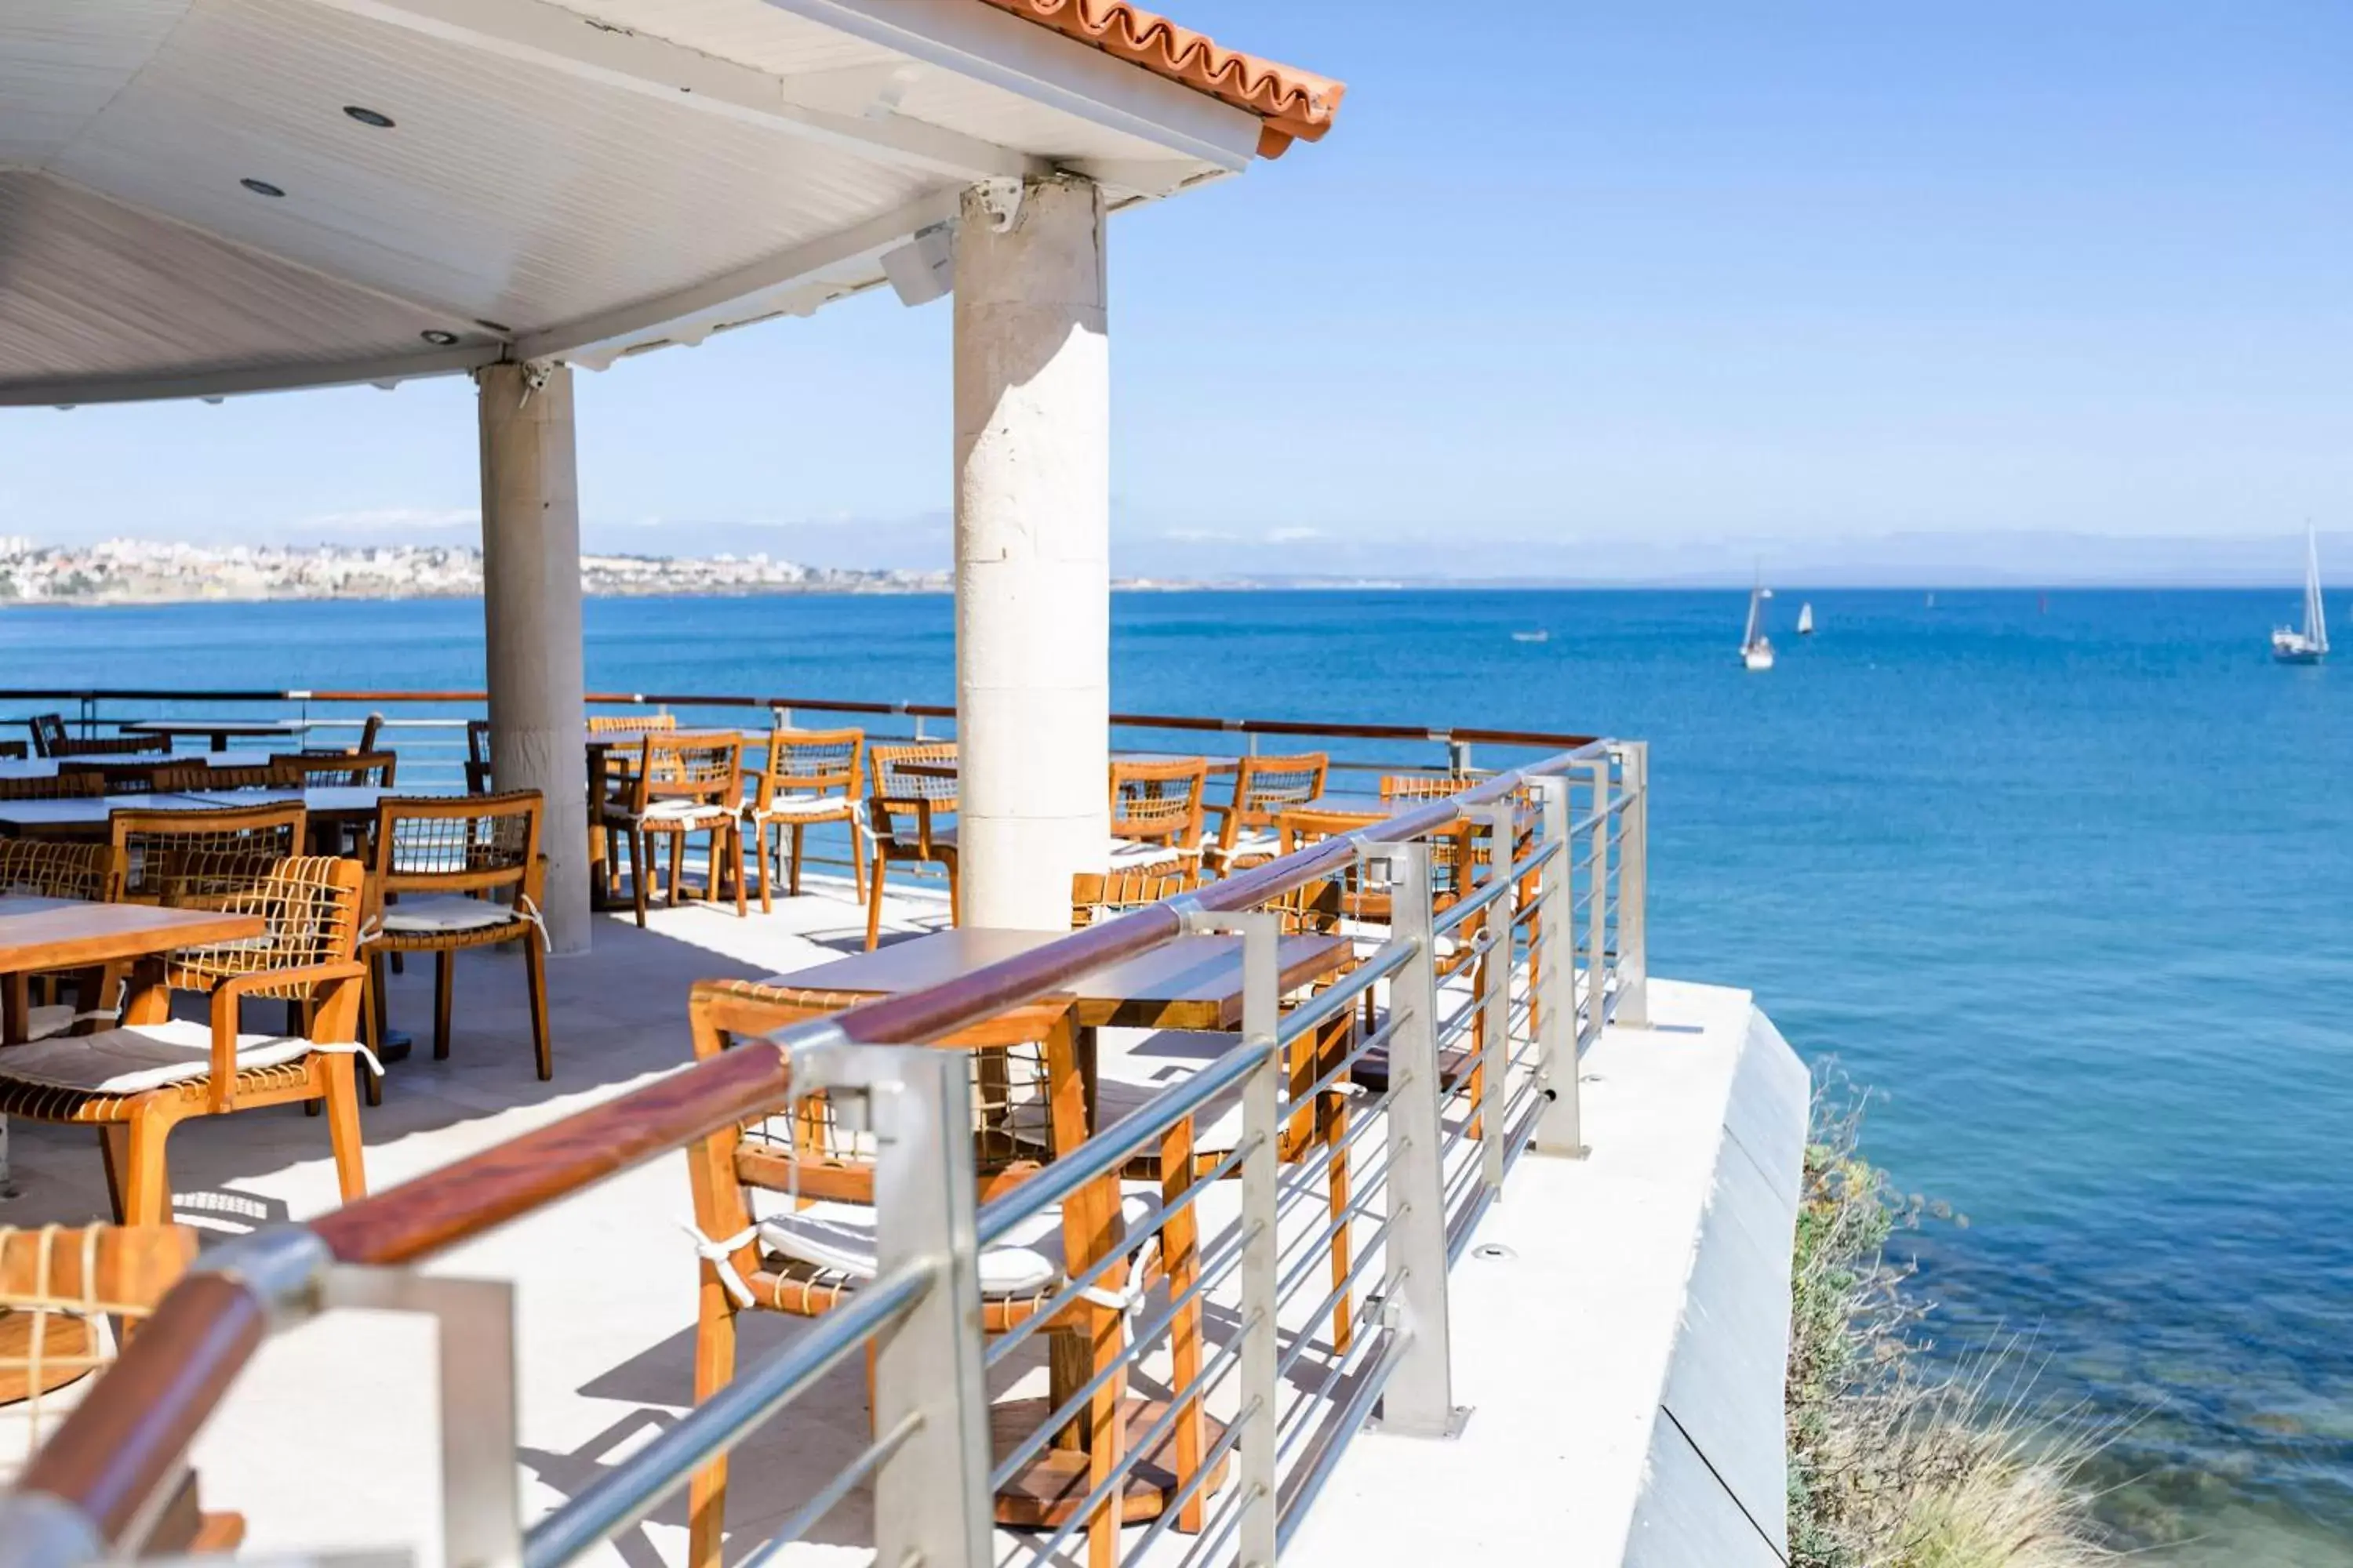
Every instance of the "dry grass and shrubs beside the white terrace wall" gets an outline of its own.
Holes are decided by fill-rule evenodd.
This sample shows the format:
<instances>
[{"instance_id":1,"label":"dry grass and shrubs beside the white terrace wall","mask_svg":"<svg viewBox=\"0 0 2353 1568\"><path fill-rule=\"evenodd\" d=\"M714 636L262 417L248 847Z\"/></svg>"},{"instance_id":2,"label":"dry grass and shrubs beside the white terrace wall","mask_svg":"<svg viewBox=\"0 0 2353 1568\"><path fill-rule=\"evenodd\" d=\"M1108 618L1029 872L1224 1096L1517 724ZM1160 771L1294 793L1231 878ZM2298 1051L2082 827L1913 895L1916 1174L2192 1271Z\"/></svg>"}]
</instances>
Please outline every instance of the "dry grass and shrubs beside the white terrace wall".
<instances>
[{"instance_id":1,"label":"dry grass and shrubs beside the white terrace wall","mask_svg":"<svg viewBox=\"0 0 2353 1568\"><path fill-rule=\"evenodd\" d=\"M1793 1568L2115 1561L2080 1483L2094 1450L2005 1387L2017 1347L1958 1375L1922 1368L1927 1307L1885 1244L1929 1211L1857 1152L1861 1107L1833 1079L1807 1143L1788 1354Z\"/></svg>"}]
</instances>

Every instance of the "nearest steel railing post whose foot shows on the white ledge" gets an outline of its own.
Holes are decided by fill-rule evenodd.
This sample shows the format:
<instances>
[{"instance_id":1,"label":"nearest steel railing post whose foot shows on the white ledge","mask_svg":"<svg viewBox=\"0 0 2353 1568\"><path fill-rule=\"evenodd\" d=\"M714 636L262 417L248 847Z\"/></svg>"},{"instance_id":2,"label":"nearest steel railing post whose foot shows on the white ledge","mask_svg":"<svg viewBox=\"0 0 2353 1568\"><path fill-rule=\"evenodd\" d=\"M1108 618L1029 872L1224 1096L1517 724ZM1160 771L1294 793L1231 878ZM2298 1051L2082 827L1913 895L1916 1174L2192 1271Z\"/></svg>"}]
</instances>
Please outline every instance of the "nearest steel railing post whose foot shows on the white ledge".
<instances>
[{"instance_id":1,"label":"nearest steel railing post whose foot shows on the white ledge","mask_svg":"<svg viewBox=\"0 0 2353 1568\"><path fill-rule=\"evenodd\" d=\"M1431 910L1431 846L1374 846L1391 867L1395 931L1414 957L1388 983L1388 1192L1391 1222L1381 1307L1405 1342L1381 1396L1381 1429L1398 1436L1457 1436L1468 1410L1454 1406L1447 1333L1447 1171L1438 1084L1438 943Z\"/></svg>"}]
</instances>

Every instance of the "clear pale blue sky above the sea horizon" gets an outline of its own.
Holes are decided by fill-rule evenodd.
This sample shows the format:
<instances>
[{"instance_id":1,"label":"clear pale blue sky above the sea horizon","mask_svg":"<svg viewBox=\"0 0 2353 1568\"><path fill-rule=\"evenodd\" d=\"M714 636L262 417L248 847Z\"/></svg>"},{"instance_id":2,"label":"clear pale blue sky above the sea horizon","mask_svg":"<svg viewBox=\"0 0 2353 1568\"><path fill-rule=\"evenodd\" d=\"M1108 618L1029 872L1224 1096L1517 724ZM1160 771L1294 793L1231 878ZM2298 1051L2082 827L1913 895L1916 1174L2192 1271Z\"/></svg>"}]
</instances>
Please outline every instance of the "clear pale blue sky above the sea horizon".
<instances>
[{"instance_id":1,"label":"clear pale blue sky above the sea horizon","mask_svg":"<svg viewBox=\"0 0 2353 1568\"><path fill-rule=\"evenodd\" d=\"M1348 101L1113 223L1132 564L2353 522L2341 2L1167 9ZM944 557L946 303L579 400L593 543ZM464 381L7 411L0 531L471 538L473 463Z\"/></svg>"}]
</instances>

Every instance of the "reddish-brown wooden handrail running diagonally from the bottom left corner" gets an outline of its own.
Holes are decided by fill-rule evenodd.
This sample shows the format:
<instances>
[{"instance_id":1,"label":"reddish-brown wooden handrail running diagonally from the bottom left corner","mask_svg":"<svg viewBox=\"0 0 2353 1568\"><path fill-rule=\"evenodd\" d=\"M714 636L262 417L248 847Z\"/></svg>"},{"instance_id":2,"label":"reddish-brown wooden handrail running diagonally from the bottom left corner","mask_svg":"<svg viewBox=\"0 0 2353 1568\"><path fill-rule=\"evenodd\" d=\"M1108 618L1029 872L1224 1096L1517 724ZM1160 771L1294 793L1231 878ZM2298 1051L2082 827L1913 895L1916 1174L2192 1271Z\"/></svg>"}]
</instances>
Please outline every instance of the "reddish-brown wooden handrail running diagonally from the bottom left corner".
<instances>
[{"instance_id":1,"label":"reddish-brown wooden handrail running diagonally from the bottom left corner","mask_svg":"<svg viewBox=\"0 0 2353 1568\"><path fill-rule=\"evenodd\" d=\"M772 1037L774 1051L739 1048L699 1060L605 1105L346 1204L311 1220L306 1229L346 1265L431 1258L776 1105L791 1091L791 1053L798 1044L835 1037L856 1044L941 1039L1184 933L1191 924L1184 905L1212 914L1252 910L1355 860L1365 844L1405 842L1449 827L1466 809L1511 795L1529 776L1588 762L1598 748L1600 743L1579 745L1499 773L1464 795L1402 811L1358 835L1311 844L1186 898L1073 931L929 990L795 1025ZM106 1378L66 1415L16 1488L47 1493L80 1509L108 1549L122 1547L146 1502L174 1474L238 1371L259 1349L268 1316L254 1288L228 1274L200 1272L181 1281Z\"/></svg>"}]
</instances>

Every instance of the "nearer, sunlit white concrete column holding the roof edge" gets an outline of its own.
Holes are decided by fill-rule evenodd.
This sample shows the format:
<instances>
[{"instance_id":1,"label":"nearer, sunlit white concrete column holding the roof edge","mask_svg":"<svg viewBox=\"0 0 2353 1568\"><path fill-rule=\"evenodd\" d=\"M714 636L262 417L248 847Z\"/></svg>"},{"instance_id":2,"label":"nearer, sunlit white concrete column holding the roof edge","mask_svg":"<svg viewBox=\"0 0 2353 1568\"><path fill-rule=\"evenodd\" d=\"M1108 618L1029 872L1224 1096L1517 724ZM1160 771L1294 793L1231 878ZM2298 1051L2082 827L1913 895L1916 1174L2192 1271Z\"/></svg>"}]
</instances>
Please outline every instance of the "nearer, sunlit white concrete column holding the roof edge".
<instances>
[{"instance_id":1,"label":"nearer, sunlit white concrete column holding the roof edge","mask_svg":"<svg viewBox=\"0 0 2353 1568\"><path fill-rule=\"evenodd\" d=\"M1007 197L967 190L955 237L962 919L1061 931L1111 835L1104 193Z\"/></svg>"}]
</instances>

